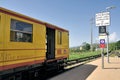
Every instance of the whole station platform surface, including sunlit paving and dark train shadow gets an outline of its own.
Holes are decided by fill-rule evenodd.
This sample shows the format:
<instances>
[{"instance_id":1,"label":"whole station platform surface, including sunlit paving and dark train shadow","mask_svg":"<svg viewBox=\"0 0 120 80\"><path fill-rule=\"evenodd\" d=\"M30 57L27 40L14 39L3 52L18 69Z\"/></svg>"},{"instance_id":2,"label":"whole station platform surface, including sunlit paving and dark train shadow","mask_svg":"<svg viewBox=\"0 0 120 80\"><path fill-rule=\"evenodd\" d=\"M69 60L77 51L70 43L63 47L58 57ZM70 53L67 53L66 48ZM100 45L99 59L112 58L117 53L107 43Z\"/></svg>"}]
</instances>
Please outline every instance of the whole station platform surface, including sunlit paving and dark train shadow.
<instances>
[{"instance_id":1,"label":"whole station platform surface, including sunlit paving and dark train shadow","mask_svg":"<svg viewBox=\"0 0 120 80\"><path fill-rule=\"evenodd\" d=\"M110 63L106 62L106 58L104 61L104 69L99 58L47 80L120 80L120 58L110 58Z\"/></svg>"}]
</instances>

